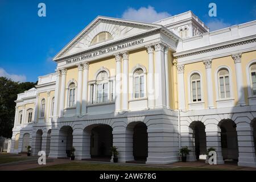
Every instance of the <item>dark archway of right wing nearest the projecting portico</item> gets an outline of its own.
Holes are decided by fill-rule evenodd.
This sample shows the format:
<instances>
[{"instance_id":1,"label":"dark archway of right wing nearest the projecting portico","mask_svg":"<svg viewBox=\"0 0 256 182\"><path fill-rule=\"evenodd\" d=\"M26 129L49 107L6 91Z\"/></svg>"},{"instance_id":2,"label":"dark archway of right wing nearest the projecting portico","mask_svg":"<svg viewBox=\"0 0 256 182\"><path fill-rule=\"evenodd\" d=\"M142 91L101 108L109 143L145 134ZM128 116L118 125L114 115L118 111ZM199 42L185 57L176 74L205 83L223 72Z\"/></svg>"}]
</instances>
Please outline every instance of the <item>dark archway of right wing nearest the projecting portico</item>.
<instances>
[{"instance_id":1,"label":"dark archway of right wing nearest the projecting portico","mask_svg":"<svg viewBox=\"0 0 256 182\"><path fill-rule=\"evenodd\" d=\"M205 134L204 123L194 121L189 126L193 130L193 146L195 150L196 159L206 159L207 141Z\"/></svg>"}]
</instances>

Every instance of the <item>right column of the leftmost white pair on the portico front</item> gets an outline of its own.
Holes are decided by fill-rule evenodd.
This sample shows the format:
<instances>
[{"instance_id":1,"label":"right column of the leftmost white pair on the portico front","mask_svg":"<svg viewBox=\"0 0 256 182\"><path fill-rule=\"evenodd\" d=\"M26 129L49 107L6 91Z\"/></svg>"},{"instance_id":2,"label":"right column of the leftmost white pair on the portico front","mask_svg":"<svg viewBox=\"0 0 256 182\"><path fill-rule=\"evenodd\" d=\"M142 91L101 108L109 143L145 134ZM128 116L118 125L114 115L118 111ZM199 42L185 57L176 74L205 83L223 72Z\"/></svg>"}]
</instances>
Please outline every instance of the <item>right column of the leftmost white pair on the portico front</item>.
<instances>
[{"instance_id":1,"label":"right column of the leftmost white pair on the portico front","mask_svg":"<svg viewBox=\"0 0 256 182\"><path fill-rule=\"evenodd\" d=\"M64 116L66 76L67 76L67 69L65 68L61 69L59 117Z\"/></svg>"}]
</instances>

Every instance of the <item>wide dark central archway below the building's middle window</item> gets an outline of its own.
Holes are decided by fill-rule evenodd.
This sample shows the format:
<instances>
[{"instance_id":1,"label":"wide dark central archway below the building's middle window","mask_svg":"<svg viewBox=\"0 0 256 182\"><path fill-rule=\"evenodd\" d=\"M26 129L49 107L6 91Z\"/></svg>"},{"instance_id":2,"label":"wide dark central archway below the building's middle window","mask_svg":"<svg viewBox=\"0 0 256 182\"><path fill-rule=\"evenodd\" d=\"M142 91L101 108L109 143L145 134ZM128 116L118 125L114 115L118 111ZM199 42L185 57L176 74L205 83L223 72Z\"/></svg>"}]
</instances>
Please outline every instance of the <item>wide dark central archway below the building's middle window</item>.
<instances>
[{"instance_id":1,"label":"wide dark central archway below the building's middle window","mask_svg":"<svg viewBox=\"0 0 256 182\"><path fill-rule=\"evenodd\" d=\"M90 127L90 156L101 160L110 160L113 146L112 127L109 125L94 125Z\"/></svg>"}]
</instances>

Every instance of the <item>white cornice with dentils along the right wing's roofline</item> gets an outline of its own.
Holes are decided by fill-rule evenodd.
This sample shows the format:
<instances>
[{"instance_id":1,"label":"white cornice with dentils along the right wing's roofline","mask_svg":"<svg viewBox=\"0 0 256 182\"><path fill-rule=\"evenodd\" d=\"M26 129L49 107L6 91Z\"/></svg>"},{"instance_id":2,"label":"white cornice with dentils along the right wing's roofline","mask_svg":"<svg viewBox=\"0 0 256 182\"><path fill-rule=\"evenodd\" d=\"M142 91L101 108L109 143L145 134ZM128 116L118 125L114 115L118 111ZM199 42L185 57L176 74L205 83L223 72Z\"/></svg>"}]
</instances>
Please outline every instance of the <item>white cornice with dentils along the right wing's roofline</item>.
<instances>
[{"instance_id":1,"label":"white cornice with dentils along the right wing's roofline","mask_svg":"<svg viewBox=\"0 0 256 182\"><path fill-rule=\"evenodd\" d=\"M189 49L188 51L174 53L174 56L179 59L181 57L199 55L201 53L217 51L219 49L225 49L225 48L230 48L230 47L235 47L235 46L241 46L243 44L249 44L249 43L253 43L253 42L256 42L256 35L247 36L246 38L230 40L228 42L213 44L210 46L200 47L200 48L196 48L196 49Z\"/></svg>"}]
</instances>

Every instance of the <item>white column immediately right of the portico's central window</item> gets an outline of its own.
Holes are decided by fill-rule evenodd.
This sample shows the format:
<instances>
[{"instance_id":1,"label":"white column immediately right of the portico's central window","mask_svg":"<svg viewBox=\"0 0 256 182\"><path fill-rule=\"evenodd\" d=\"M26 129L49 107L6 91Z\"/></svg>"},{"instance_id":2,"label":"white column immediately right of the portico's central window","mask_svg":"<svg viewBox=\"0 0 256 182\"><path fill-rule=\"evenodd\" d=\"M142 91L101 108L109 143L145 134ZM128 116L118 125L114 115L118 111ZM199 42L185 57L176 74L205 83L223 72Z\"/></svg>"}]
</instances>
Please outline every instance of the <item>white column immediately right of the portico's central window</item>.
<instances>
[{"instance_id":1,"label":"white column immediately right of the portico's central window","mask_svg":"<svg viewBox=\"0 0 256 182\"><path fill-rule=\"evenodd\" d=\"M121 56L115 56L115 110L121 110Z\"/></svg>"}]
</instances>

